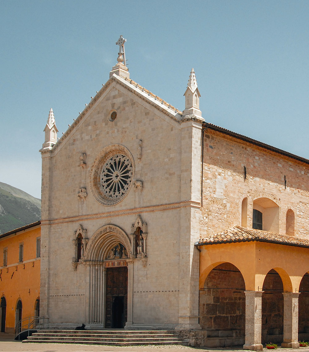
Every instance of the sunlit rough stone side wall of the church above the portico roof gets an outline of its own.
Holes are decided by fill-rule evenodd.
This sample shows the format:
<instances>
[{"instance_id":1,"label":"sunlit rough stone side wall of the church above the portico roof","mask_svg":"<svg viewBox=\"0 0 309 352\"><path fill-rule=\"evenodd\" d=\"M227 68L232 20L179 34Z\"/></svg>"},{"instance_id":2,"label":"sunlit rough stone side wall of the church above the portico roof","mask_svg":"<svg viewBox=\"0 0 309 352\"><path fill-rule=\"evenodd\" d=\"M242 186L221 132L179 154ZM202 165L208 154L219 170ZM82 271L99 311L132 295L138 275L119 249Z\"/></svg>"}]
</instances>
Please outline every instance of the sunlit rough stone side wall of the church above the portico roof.
<instances>
[{"instance_id":1,"label":"sunlit rough stone side wall of the church above the portico roof","mask_svg":"<svg viewBox=\"0 0 309 352\"><path fill-rule=\"evenodd\" d=\"M203 159L201 236L241 225L245 197L246 227L252 227L254 200L265 197L279 206L280 234L285 234L291 209L295 236L308 236L308 165L209 129L204 133Z\"/></svg>"}]
</instances>

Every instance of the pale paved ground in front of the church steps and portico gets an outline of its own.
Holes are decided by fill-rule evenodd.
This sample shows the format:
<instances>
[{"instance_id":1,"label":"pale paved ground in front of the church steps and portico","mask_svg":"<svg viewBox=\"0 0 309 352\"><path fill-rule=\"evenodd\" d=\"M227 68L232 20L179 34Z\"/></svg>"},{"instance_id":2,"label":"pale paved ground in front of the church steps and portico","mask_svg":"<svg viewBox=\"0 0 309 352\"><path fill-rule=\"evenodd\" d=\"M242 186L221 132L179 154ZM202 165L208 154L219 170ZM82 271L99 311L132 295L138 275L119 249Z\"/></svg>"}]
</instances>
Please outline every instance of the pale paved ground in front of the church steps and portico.
<instances>
[{"instance_id":1,"label":"pale paved ground in front of the church steps and portico","mask_svg":"<svg viewBox=\"0 0 309 352\"><path fill-rule=\"evenodd\" d=\"M235 348L194 348L188 346L138 346L138 347L114 347L101 345L78 345L78 344L22 344L14 340L14 334L0 333L0 351L4 352L243 352L242 346ZM264 348L264 351L268 351ZM309 348L290 349L278 347L278 352L309 352Z\"/></svg>"}]
</instances>

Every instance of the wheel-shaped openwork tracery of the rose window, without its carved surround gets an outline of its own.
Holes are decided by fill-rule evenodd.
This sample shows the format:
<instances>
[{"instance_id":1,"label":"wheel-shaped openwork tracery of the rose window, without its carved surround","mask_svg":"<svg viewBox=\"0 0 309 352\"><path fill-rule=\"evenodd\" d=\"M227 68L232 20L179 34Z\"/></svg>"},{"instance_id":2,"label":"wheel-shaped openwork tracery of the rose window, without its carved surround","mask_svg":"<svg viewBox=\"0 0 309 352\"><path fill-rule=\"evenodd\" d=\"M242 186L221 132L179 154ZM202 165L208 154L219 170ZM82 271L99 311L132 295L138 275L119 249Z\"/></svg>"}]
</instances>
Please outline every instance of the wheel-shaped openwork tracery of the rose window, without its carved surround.
<instances>
[{"instance_id":1,"label":"wheel-shaped openwork tracery of the rose window, without its carved surround","mask_svg":"<svg viewBox=\"0 0 309 352\"><path fill-rule=\"evenodd\" d=\"M103 165L100 186L103 193L112 199L119 199L130 187L133 177L131 160L124 155L116 154Z\"/></svg>"}]
</instances>

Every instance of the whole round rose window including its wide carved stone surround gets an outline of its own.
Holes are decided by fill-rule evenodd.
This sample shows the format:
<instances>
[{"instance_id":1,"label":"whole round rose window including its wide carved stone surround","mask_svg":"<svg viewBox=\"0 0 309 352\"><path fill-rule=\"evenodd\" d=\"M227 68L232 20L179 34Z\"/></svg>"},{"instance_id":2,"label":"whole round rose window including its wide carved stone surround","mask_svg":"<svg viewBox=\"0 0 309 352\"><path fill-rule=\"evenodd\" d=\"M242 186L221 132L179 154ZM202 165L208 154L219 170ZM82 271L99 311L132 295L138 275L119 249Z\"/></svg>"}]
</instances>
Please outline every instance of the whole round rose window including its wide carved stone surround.
<instances>
[{"instance_id":1,"label":"whole round rose window including its wide carved stone surround","mask_svg":"<svg viewBox=\"0 0 309 352\"><path fill-rule=\"evenodd\" d=\"M121 144L105 147L93 163L90 189L94 198L104 205L120 202L129 192L134 179L134 161Z\"/></svg>"}]
</instances>

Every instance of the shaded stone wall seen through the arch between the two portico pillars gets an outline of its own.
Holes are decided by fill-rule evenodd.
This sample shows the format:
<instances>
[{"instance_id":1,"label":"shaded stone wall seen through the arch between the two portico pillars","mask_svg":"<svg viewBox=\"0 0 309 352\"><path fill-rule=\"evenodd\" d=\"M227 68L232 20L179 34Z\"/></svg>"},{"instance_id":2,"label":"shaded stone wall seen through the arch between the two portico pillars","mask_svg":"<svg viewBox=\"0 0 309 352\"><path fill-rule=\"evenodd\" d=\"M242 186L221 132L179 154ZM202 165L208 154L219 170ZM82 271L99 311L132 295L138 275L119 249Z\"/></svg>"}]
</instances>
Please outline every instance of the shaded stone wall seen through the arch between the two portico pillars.
<instances>
[{"instance_id":1,"label":"shaded stone wall seen through the arch between the two portico pillars","mask_svg":"<svg viewBox=\"0 0 309 352\"><path fill-rule=\"evenodd\" d=\"M267 335L283 334L283 284L275 270L270 270L266 275L263 291L262 343L265 342Z\"/></svg>"}]
</instances>

